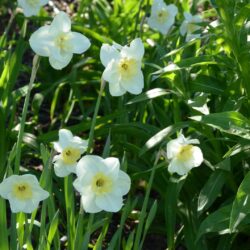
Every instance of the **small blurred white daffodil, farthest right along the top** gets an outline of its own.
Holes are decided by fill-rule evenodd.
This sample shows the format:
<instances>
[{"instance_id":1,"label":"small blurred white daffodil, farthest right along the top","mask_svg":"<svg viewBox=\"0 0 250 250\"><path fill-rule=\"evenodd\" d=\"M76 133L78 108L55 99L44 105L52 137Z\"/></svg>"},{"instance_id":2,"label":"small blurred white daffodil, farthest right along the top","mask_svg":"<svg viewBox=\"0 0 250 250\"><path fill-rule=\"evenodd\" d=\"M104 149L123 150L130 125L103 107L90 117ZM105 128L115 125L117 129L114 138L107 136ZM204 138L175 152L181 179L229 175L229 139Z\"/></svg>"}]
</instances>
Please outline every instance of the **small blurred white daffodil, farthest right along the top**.
<instances>
[{"instance_id":1,"label":"small blurred white daffodil, farthest right along the top","mask_svg":"<svg viewBox=\"0 0 250 250\"><path fill-rule=\"evenodd\" d=\"M180 27L181 35L182 36L185 36L185 34L187 35L186 42L195 38L199 38L200 34L193 34L193 33L200 29L200 26L197 25L196 23L202 22L201 17L198 15L192 16L188 12L184 12L184 17L185 20L182 22Z\"/></svg>"}]
</instances>

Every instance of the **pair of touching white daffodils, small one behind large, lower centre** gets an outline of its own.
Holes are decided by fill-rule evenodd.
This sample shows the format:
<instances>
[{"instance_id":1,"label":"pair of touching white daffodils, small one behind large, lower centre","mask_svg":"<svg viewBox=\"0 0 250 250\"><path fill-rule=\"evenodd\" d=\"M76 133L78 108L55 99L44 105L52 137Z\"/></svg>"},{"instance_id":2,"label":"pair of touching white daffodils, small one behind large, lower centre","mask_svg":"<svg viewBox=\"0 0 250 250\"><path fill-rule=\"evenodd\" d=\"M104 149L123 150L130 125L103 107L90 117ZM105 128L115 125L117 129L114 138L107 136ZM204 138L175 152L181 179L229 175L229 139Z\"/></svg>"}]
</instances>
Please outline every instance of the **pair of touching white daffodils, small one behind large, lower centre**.
<instances>
[{"instance_id":1,"label":"pair of touching white daffodils, small one behind large, lower centre","mask_svg":"<svg viewBox=\"0 0 250 250\"><path fill-rule=\"evenodd\" d=\"M66 129L59 130L59 141L54 142L54 149L59 153L54 157L55 174L65 177L76 173L73 185L81 194L86 212L117 212L121 209L122 196L130 189L130 178L120 170L117 158L103 159L96 155L81 158L87 149L87 141Z\"/></svg>"}]
</instances>

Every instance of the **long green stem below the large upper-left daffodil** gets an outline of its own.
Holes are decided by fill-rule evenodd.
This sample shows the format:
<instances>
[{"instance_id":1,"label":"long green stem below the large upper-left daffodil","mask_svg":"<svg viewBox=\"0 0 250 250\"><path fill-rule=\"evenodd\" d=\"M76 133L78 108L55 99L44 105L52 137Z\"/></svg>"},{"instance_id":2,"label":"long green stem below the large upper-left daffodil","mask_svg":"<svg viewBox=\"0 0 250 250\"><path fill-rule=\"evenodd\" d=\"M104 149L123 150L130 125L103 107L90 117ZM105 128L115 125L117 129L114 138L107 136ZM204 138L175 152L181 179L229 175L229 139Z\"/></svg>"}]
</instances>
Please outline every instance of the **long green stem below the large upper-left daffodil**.
<instances>
[{"instance_id":1,"label":"long green stem below the large upper-left daffodil","mask_svg":"<svg viewBox=\"0 0 250 250\"><path fill-rule=\"evenodd\" d=\"M23 141L23 135L24 135L25 121L26 121L26 116L27 116L27 111L28 111L28 106L29 106L30 93L31 93L33 83L34 83L35 78L36 78L38 66L39 66L39 56L35 55L34 59L33 59L33 66L32 66L28 91L27 91L27 95L25 97L25 101L24 101L24 105L23 105L20 130L19 130L18 138L17 138L14 174L19 173L20 159L21 159L21 147L22 147L22 141Z\"/></svg>"}]
</instances>

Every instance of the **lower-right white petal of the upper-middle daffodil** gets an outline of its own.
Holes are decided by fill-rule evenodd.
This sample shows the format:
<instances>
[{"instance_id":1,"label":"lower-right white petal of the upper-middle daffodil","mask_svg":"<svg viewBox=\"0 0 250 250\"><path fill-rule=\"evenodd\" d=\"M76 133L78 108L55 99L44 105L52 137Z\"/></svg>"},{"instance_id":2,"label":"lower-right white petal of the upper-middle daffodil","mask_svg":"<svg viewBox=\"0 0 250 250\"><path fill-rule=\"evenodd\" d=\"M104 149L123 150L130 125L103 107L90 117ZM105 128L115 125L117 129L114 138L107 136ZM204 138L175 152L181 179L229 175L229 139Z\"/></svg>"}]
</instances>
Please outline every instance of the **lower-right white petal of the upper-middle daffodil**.
<instances>
[{"instance_id":1,"label":"lower-right white petal of the upper-middle daffodil","mask_svg":"<svg viewBox=\"0 0 250 250\"><path fill-rule=\"evenodd\" d=\"M142 92L144 86L144 78L142 71L139 70L138 73L133 78L122 78L120 81L121 86L130 92L131 94L138 95Z\"/></svg>"}]
</instances>

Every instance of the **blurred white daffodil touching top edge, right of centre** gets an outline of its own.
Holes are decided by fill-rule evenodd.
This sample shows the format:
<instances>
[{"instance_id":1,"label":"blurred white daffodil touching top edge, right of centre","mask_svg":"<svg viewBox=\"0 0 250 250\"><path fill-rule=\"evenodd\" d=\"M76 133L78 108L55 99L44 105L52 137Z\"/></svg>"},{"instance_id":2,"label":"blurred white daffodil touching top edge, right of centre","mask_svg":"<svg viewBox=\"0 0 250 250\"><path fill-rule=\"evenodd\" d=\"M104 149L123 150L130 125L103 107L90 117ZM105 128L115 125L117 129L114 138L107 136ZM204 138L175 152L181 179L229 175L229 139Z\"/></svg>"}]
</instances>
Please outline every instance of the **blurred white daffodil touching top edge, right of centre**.
<instances>
[{"instance_id":1,"label":"blurred white daffodil touching top edge, right of centre","mask_svg":"<svg viewBox=\"0 0 250 250\"><path fill-rule=\"evenodd\" d=\"M163 0L154 0L148 25L166 35L174 24L178 9L174 4L166 5Z\"/></svg>"}]
</instances>

